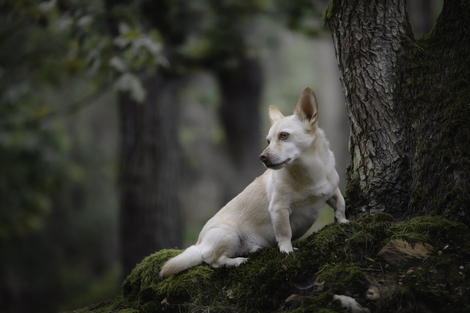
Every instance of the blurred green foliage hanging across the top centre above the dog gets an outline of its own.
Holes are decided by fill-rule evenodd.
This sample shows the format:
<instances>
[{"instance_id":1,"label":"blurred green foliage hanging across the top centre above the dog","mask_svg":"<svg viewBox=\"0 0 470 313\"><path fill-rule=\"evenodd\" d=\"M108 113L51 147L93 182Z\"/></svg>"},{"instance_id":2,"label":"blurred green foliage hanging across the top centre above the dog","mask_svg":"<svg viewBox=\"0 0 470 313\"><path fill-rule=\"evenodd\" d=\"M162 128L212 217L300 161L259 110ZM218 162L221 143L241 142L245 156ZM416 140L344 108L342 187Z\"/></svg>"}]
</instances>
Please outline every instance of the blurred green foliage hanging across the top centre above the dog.
<instances>
[{"instance_id":1,"label":"blurred green foliage hanging across the top centre above the dog","mask_svg":"<svg viewBox=\"0 0 470 313\"><path fill-rule=\"evenodd\" d=\"M318 13L308 0L149 1L142 8L142 15L165 34L170 64L166 72L172 75L200 69L236 69L240 58L254 56L246 38L254 30L256 18L262 15L275 17L308 36L320 31L314 21Z\"/></svg>"}]
</instances>

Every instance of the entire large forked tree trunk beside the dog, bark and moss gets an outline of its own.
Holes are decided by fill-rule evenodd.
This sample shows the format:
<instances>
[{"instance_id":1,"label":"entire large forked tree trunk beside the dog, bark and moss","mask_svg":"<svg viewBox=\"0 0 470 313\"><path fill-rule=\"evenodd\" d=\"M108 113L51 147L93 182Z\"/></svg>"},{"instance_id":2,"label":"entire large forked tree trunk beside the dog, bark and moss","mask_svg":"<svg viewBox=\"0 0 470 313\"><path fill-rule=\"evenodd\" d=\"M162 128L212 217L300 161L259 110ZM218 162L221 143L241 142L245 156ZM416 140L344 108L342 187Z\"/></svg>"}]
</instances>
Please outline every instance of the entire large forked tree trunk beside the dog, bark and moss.
<instances>
[{"instance_id":1,"label":"entire large forked tree trunk beside the dog, bark and moss","mask_svg":"<svg viewBox=\"0 0 470 313\"><path fill-rule=\"evenodd\" d=\"M325 10L349 112L352 217L469 222L469 6L446 1L418 40L405 0L332 0Z\"/></svg>"}]
</instances>

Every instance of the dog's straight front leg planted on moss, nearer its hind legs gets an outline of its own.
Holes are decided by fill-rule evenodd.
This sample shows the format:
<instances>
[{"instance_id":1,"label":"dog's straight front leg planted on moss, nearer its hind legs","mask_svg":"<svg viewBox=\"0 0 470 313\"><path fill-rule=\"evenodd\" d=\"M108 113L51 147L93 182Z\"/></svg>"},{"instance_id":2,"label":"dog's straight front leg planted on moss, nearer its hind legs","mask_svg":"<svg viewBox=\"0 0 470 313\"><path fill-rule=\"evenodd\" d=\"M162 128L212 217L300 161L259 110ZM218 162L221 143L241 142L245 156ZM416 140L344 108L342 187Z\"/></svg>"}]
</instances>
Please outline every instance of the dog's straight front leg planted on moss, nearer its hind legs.
<instances>
[{"instance_id":1,"label":"dog's straight front leg planted on moss, nearer its hind legs","mask_svg":"<svg viewBox=\"0 0 470 313\"><path fill-rule=\"evenodd\" d=\"M283 203L270 204L269 214L273 223L274 233L276 234L279 250L285 253L293 253L292 249L292 230L290 229L289 206Z\"/></svg>"}]
</instances>

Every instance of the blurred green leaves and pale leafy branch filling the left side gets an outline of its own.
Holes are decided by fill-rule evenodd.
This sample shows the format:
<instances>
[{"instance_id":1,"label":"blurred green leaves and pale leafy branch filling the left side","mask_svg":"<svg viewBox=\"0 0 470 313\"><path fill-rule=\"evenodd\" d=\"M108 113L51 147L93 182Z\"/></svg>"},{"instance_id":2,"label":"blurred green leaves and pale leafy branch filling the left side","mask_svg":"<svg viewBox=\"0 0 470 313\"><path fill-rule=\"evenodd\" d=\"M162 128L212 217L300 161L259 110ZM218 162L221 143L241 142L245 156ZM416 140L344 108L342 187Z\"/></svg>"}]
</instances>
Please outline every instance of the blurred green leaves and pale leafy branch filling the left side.
<instances>
[{"instance_id":1,"label":"blurred green leaves and pale leafy branch filling the left side","mask_svg":"<svg viewBox=\"0 0 470 313\"><path fill-rule=\"evenodd\" d=\"M101 1L61 5L3 1L0 7L0 240L41 229L52 192L69 179L66 173L73 179L76 167L64 158L67 138L50 117L75 111L110 84L142 100L145 91L133 73L167 62L156 31L147 35L124 22L115 40L121 50L114 49L102 32ZM69 103L51 101L60 89L72 89Z\"/></svg>"}]
</instances>

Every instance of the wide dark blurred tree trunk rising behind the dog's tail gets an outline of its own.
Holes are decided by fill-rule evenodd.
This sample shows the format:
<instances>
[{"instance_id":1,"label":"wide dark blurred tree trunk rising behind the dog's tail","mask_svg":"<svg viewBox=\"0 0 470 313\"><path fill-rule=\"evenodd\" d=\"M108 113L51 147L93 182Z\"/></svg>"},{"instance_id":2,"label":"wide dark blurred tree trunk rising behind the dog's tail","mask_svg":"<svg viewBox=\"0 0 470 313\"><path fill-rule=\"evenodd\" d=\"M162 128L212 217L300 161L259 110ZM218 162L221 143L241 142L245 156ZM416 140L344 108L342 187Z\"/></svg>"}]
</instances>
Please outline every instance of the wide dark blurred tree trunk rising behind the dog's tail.
<instances>
[{"instance_id":1,"label":"wide dark blurred tree trunk rising behind the dog's tail","mask_svg":"<svg viewBox=\"0 0 470 313\"><path fill-rule=\"evenodd\" d=\"M143 257L181 247L178 202L180 80L161 75L144 82L143 103L119 96L121 121L120 239L124 273Z\"/></svg>"}]
</instances>

